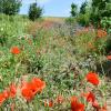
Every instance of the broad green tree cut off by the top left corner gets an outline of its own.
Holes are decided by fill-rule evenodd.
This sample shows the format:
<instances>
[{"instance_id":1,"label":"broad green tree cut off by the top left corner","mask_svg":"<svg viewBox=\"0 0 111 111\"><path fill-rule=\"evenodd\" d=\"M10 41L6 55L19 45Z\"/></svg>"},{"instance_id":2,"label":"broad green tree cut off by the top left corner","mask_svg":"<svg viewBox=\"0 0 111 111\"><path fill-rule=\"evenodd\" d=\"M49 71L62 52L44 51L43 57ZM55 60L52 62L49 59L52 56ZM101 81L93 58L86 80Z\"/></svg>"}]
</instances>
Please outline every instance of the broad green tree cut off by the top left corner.
<instances>
[{"instance_id":1,"label":"broad green tree cut off by the top left corner","mask_svg":"<svg viewBox=\"0 0 111 111\"><path fill-rule=\"evenodd\" d=\"M20 0L0 0L0 12L9 16L17 14L20 11Z\"/></svg>"}]
</instances>

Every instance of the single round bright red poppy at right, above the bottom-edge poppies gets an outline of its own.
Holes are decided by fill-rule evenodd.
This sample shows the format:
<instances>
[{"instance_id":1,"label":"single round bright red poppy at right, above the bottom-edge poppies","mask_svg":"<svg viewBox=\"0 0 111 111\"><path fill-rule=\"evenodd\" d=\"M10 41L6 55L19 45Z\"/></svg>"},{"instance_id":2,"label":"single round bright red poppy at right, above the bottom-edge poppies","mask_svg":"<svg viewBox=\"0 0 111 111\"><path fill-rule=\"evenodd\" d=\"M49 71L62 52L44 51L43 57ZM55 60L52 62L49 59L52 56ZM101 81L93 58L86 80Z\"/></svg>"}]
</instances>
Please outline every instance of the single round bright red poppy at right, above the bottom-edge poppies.
<instances>
[{"instance_id":1,"label":"single round bright red poppy at right, above the bottom-edge poppies","mask_svg":"<svg viewBox=\"0 0 111 111\"><path fill-rule=\"evenodd\" d=\"M99 77L97 73L89 72L85 78L87 78L87 81L92 83L93 85L99 84Z\"/></svg>"}]
</instances>

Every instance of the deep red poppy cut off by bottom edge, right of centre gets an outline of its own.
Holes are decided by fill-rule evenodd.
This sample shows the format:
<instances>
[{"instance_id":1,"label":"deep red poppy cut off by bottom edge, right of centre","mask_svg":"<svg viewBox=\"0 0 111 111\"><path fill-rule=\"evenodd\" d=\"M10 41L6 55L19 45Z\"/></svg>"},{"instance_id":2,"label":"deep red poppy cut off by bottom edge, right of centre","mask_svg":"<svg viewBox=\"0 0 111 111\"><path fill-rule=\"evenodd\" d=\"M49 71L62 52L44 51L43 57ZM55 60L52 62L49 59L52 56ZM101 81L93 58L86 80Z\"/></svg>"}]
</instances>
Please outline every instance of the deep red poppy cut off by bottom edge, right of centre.
<instances>
[{"instance_id":1,"label":"deep red poppy cut off by bottom edge, right of centre","mask_svg":"<svg viewBox=\"0 0 111 111\"><path fill-rule=\"evenodd\" d=\"M79 102L77 97L71 99L71 111L84 111L84 104Z\"/></svg>"}]
</instances>

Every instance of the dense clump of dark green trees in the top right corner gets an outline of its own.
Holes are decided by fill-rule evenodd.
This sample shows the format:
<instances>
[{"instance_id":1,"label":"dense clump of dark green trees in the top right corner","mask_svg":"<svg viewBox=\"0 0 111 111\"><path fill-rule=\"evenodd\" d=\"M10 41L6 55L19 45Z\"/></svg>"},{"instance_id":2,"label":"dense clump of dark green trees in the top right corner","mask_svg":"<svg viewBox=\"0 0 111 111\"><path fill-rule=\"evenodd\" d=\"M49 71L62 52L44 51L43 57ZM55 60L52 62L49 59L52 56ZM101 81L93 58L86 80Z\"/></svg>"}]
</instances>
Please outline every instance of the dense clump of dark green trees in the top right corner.
<instances>
[{"instance_id":1,"label":"dense clump of dark green trees in the top right corner","mask_svg":"<svg viewBox=\"0 0 111 111\"><path fill-rule=\"evenodd\" d=\"M110 27L111 0L85 0L79 11L78 6L72 3L70 13L71 17L79 17L82 24L92 23L95 27L100 27L101 22L104 21L103 24Z\"/></svg>"}]
</instances>

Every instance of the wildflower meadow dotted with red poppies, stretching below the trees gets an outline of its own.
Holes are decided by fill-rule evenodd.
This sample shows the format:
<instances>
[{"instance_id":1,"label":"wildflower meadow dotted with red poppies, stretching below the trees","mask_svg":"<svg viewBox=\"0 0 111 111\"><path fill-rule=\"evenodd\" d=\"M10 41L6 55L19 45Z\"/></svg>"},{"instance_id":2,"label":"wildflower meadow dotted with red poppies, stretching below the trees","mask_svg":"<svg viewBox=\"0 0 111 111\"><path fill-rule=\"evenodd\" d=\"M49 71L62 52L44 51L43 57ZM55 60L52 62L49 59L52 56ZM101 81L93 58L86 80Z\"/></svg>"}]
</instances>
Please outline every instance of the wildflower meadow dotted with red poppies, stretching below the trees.
<instances>
[{"instance_id":1,"label":"wildflower meadow dotted with red poppies, stretching below the trees","mask_svg":"<svg viewBox=\"0 0 111 111\"><path fill-rule=\"evenodd\" d=\"M110 111L109 37L64 18L0 16L0 111Z\"/></svg>"}]
</instances>

